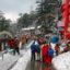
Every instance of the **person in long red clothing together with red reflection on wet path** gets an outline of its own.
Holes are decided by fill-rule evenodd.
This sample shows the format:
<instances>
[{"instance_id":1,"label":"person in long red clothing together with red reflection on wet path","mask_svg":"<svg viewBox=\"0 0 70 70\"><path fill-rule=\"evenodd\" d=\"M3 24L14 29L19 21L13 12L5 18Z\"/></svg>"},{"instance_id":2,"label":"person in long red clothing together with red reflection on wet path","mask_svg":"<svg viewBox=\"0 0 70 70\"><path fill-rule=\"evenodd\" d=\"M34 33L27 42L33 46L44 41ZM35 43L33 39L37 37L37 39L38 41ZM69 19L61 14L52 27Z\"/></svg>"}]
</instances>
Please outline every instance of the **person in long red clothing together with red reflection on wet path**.
<instances>
[{"instance_id":1,"label":"person in long red clothing together with red reflection on wet path","mask_svg":"<svg viewBox=\"0 0 70 70\"><path fill-rule=\"evenodd\" d=\"M51 60L52 60L52 56L49 56L49 47L50 44L46 44L44 43L43 46L42 46L42 61L43 61L43 70L46 69L48 70L49 69L49 66L51 65Z\"/></svg>"}]
</instances>

